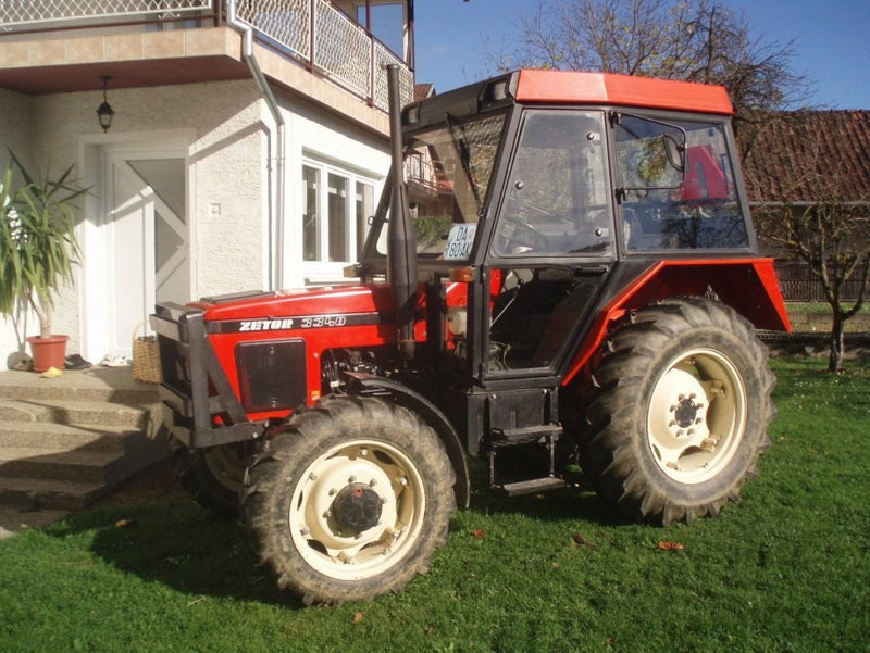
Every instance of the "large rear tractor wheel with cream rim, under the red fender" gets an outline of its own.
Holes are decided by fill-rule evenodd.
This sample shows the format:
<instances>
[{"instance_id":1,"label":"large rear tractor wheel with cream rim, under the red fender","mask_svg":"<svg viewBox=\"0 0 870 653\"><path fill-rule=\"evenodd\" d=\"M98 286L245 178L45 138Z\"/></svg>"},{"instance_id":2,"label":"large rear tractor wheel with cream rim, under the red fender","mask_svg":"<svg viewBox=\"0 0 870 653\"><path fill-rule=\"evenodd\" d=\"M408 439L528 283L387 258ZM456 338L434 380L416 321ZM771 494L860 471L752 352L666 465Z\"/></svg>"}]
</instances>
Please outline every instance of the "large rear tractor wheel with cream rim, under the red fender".
<instances>
[{"instance_id":1,"label":"large rear tractor wheel with cream rim, under the red fender","mask_svg":"<svg viewBox=\"0 0 870 653\"><path fill-rule=\"evenodd\" d=\"M593 373L584 474L625 514L669 524L738 502L770 448L775 377L729 306L669 300L638 311Z\"/></svg>"}]
</instances>

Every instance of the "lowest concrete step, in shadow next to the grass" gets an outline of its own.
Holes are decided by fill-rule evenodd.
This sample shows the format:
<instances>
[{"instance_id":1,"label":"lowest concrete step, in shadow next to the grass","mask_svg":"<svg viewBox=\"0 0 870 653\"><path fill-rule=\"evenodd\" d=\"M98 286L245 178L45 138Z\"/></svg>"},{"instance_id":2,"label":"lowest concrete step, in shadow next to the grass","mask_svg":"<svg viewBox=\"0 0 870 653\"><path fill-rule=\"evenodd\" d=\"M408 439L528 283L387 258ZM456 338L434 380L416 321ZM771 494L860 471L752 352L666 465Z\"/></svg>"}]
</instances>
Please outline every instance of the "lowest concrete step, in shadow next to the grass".
<instances>
[{"instance_id":1,"label":"lowest concrete step, in shadow next to the grass","mask_svg":"<svg viewBox=\"0 0 870 653\"><path fill-rule=\"evenodd\" d=\"M77 511L108 492L99 482L0 477L0 506L14 511Z\"/></svg>"}]
</instances>

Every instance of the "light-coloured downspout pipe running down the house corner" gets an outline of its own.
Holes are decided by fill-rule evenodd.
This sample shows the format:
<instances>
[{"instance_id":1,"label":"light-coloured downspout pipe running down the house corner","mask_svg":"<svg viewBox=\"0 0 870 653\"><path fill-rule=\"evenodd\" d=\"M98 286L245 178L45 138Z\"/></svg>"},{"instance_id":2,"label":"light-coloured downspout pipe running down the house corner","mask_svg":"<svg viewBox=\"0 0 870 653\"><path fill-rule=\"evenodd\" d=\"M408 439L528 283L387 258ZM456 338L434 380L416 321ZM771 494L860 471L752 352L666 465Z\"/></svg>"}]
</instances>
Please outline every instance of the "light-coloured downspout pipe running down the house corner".
<instances>
[{"instance_id":1,"label":"light-coloured downspout pipe running down the house corner","mask_svg":"<svg viewBox=\"0 0 870 653\"><path fill-rule=\"evenodd\" d=\"M275 252L274 272L272 272L273 266L271 264L269 266L269 282L271 286L270 290L274 290L279 288L284 282L284 210L286 204L284 192L284 172L287 150L287 136L284 116L281 115L281 109L275 100L275 96L272 95L272 88L269 86L265 75L263 75L263 72L260 70L260 63L257 61L257 56L253 53L253 28L238 18L236 13L236 0L228 0L226 3L226 24L241 35L241 59L244 59L245 63L248 64L251 76L257 83L260 93L262 95L263 100L265 100L266 106L269 106L269 111L272 114L272 120L275 121L275 138L277 140L275 148L277 159L275 165L275 211L271 216L272 222L274 223L275 243L271 244L269 248L270 256L273 255L273 251Z\"/></svg>"}]
</instances>

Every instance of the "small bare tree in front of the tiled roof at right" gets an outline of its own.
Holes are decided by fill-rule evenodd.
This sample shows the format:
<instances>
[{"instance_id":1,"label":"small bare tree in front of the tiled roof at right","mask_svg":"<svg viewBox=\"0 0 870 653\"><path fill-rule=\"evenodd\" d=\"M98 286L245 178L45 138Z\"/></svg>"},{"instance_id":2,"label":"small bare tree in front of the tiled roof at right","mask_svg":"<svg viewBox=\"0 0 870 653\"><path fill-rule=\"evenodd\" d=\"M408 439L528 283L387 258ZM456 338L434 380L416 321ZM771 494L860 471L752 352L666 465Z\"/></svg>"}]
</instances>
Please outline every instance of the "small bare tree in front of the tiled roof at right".
<instances>
[{"instance_id":1,"label":"small bare tree in front of the tiled roof at right","mask_svg":"<svg viewBox=\"0 0 870 653\"><path fill-rule=\"evenodd\" d=\"M844 326L863 306L870 272L870 186L863 155L844 138L854 115L771 115L754 134L744 167L749 194L762 199L753 212L761 239L804 261L821 282L832 313L829 372L843 368Z\"/></svg>"}]
</instances>

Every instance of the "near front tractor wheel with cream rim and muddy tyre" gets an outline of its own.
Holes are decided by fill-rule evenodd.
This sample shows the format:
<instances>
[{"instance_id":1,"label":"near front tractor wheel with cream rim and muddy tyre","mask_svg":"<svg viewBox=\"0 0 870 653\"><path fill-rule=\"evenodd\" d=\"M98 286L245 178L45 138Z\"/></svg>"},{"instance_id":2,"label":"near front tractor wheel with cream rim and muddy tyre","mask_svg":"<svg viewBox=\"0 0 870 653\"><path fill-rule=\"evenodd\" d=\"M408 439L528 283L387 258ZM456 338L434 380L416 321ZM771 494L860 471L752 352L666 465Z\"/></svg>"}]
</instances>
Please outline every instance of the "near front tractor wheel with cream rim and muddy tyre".
<instances>
[{"instance_id":1,"label":"near front tractor wheel with cream rim and muddy tyre","mask_svg":"<svg viewBox=\"0 0 870 653\"><path fill-rule=\"evenodd\" d=\"M447 540L455 474L435 431L378 399L327 398L270 438L243 512L262 563L306 604L396 592Z\"/></svg>"}]
</instances>

